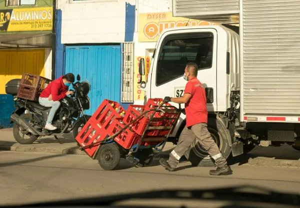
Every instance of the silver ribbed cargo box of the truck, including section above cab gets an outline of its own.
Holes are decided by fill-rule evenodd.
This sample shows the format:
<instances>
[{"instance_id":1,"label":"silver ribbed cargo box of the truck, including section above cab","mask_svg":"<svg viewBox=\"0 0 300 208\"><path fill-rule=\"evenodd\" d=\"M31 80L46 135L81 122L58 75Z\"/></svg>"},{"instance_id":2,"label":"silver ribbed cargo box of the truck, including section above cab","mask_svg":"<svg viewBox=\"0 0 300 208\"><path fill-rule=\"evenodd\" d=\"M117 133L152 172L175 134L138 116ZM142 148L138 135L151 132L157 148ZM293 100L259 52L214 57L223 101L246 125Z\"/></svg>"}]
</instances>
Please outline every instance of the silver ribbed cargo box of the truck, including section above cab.
<instances>
[{"instance_id":1,"label":"silver ribbed cargo box of the truck, including section above cab","mask_svg":"<svg viewBox=\"0 0 300 208\"><path fill-rule=\"evenodd\" d=\"M241 121L299 121L300 0L173 3L177 16L219 23L227 23L220 15L239 11Z\"/></svg>"}]
</instances>

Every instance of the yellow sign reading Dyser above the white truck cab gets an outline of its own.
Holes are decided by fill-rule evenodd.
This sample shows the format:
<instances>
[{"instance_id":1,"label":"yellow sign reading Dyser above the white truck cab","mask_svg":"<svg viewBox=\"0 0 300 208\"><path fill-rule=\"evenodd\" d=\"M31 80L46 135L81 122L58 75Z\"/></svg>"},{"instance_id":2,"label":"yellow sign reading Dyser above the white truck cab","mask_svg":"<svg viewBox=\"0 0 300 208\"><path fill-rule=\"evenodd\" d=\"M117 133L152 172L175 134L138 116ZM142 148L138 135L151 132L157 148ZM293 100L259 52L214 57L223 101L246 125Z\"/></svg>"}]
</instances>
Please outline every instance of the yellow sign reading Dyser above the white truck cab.
<instances>
[{"instance_id":1,"label":"yellow sign reading Dyser above the white truck cab","mask_svg":"<svg viewBox=\"0 0 300 208\"><path fill-rule=\"evenodd\" d=\"M138 16L138 41L155 42L163 29L179 26L216 24L208 21L173 17L172 12L140 13Z\"/></svg>"}]
</instances>

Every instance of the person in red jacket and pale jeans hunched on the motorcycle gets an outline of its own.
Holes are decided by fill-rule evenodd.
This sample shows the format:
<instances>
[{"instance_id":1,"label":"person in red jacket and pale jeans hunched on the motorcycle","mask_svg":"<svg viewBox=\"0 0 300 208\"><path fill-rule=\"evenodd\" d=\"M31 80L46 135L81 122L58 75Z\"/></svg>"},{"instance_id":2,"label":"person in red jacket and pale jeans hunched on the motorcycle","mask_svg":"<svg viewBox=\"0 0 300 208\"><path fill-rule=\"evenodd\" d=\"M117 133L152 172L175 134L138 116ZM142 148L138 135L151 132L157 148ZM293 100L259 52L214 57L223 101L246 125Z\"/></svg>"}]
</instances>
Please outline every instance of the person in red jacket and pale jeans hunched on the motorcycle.
<instances>
[{"instance_id":1,"label":"person in red jacket and pale jeans hunched on the motorcycle","mask_svg":"<svg viewBox=\"0 0 300 208\"><path fill-rule=\"evenodd\" d=\"M46 121L45 129L55 130L56 127L52 125L52 120L58 108L60 107L60 100L65 96L73 94L72 91L68 91L68 87L73 83L75 77L72 73L67 73L64 76L55 79L50 82L48 86L40 93L38 102L45 107L51 107L48 118Z\"/></svg>"}]
</instances>

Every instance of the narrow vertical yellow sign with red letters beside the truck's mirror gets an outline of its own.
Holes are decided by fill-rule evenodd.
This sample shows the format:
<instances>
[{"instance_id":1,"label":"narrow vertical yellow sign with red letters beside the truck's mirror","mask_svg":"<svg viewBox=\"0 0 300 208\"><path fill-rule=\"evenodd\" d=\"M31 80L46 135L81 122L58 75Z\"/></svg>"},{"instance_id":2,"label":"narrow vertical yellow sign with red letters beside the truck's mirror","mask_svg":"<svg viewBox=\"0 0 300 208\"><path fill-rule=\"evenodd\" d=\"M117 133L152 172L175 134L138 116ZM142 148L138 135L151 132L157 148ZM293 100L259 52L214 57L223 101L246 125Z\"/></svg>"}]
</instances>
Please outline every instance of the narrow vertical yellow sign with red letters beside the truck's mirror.
<instances>
[{"instance_id":1,"label":"narrow vertical yellow sign with red letters beside the truck's mirror","mask_svg":"<svg viewBox=\"0 0 300 208\"><path fill-rule=\"evenodd\" d=\"M139 67L139 60L140 58L144 58L145 60L145 75L142 76L142 81L147 82L148 81L148 73L150 70L150 62L151 62L151 57L150 56L135 56L135 67L134 67L134 74L135 74L135 79L134 79L134 100L143 100L144 98L144 91L141 90L140 84L137 84L137 81L140 78L140 75L138 73L138 67Z\"/></svg>"}]
</instances>

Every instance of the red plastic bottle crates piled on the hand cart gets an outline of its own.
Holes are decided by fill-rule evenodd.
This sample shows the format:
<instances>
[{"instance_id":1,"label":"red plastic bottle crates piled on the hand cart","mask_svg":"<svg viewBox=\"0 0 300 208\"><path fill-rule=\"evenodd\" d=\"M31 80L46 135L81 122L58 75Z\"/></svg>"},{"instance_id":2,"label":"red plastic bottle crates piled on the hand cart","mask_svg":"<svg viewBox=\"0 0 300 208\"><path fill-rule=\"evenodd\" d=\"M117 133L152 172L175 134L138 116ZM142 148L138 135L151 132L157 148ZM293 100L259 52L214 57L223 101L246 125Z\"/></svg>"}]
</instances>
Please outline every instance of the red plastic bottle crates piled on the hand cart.
<instances>
[{"instance_id":1,"label":"red plastic bottle crates piled on the hand cart","mask_svg":"<svg viewBox=\"0 0 300 208\"><path fill-rule=\"evenodd\" d=\"M149 124L150 116L153 111L146 113L139 119L137 118L143 112L157 107L161 104L161 102L163 102L163 100L159 98L148 99L146 105L130 105L125 112L119 103L104 100L75 139L81 147L85 147L114 135L123 129L125 125L136 120L129 126L129 128L126 128L114 138L114 141L124 149L130 149L133 145L139 142L141 135ZM170 106L168 103L165 103L164 105ZM174 118L176 115L176 113L156 112L154 114L154 118ZM172 125L172 122L174 122L174 120L151 121L149 126L170 126ZM168 132L169 130L148 130L145 132L145 136L161 137L167 135ZM85 148L84 150L90 157L92 157L98 146L99 144L90 148Z\"/></svg>"}]
</instances>

